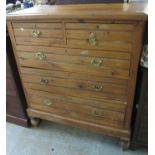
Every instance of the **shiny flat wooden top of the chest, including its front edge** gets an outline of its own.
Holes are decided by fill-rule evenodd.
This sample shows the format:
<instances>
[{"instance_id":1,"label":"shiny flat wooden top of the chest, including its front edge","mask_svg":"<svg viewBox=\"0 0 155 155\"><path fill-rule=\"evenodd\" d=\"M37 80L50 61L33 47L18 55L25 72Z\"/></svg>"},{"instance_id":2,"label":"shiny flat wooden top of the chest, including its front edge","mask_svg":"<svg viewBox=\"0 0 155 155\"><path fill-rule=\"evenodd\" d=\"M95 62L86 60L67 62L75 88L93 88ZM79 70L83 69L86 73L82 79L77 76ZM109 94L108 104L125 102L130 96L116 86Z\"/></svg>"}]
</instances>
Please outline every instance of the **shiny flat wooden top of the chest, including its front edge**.
<instances>
[{"instance_id":1,"label":"shiny flat wooden top of the chest, including its front edge","mask_svg":"<svg viewBox=\"0 0 155 155\"><path fill-rule=\"evenodd\" d=\"M147 3L35 6L7 14L7 20L33 19L147 20Z\"/></svg>"}]
</instances>

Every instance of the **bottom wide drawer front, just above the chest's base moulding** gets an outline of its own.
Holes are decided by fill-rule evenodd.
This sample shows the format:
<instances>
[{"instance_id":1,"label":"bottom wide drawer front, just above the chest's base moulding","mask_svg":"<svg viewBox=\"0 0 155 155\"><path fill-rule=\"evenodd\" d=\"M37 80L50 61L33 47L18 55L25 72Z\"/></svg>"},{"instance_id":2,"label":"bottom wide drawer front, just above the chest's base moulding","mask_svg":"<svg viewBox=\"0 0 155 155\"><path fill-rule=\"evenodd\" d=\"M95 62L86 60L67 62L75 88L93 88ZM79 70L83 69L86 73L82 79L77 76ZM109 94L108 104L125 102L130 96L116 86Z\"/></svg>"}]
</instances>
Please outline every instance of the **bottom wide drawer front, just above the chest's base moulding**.
<instances>
[{"instance_id":1,"label":"bottom wide drawer front, just above the chest's base moulding","mask_svg":"<svg viewBox=\"0 0 155 155\"><path fill-rule=\"evenodd\" d=\"M30 105L33 109L42 110L52 114L71 117L102 125L122 127L124 114L121 112L99 109L88 105L77 104L29 90Z\"/></svg>"}]
</instances>

